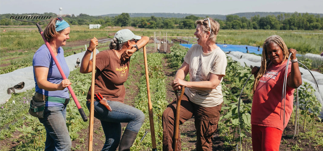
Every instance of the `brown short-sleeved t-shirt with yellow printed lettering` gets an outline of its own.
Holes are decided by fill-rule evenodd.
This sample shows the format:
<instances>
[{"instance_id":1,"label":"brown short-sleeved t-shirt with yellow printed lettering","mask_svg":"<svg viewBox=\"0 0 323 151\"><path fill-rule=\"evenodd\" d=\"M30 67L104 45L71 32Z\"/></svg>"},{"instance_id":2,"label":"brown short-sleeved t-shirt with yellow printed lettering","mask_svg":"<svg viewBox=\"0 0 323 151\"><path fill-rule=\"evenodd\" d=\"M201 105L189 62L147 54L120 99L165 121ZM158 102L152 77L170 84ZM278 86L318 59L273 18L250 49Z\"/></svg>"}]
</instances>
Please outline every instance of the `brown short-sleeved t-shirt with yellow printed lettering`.
<instances>
[{"instance_id":1,"label":"brown short-sleeved t-shirt with yellow printed lettering","mask_svg":"<svg viewBox=\"0 0 323 151\"><path fill-rule=\"evenodd\" d=\"M96 67L94 85L95 94L100 94L110 101L123 103L126 95L123 83L129 74L129 59L123 61L118 58L116 50L101 51L96 55ZM89 88L87 100L91 99L91 87Z\"/></svg>"}]
</instances>

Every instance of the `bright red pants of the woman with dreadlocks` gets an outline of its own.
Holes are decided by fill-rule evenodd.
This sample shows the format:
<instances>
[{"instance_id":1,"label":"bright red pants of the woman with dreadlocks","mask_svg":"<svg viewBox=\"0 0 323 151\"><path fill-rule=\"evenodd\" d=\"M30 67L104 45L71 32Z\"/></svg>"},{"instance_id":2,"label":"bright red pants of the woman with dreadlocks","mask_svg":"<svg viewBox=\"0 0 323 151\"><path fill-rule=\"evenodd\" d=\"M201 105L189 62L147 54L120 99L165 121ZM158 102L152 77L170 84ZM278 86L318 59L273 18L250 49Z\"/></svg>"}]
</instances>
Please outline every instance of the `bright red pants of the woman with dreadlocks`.
<instances>
[{"instance_id":1,"label":"bright red pants of the woman with dreadlocks","mask_svg":"<svg viewBox=\"0 0 323 151\"><path fill-rule=\"evenodd\" d=\"M254 151L279 151L283 131L274 127L251 125Z\"/></svg>"}]
</instances>

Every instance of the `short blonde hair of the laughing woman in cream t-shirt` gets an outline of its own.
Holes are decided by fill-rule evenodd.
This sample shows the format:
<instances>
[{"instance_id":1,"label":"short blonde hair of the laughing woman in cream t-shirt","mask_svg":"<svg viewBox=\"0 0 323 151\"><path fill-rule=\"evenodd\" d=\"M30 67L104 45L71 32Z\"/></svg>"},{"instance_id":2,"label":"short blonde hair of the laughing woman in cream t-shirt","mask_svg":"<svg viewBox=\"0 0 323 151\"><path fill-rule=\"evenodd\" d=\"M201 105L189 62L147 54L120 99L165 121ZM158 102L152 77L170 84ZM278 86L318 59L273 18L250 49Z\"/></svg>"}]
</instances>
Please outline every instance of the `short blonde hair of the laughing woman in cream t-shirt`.
<instances>
[{"instance_id":1,"label":"short blonde hair of the laughing woman in cream t-shirt","mask_svg":"<svg viewBox=\"0 0 323 151\"><path fill-rule=\"evenodd\" d=\"M210 33L210 36L209 36L209 40L212 41L212 42L216 42L216 36L218 35L219 33L219 29L220 29L220 24L219 22L215 21L214 19L212 18L209 18L210 19L210 24L211 24L211 33ZM195 21L195 25L201 25L203 31L205 32L208 32L210 31L210 27L209 27L209 21L207 20L197 20Z\"/></svg>"}]
</instances>

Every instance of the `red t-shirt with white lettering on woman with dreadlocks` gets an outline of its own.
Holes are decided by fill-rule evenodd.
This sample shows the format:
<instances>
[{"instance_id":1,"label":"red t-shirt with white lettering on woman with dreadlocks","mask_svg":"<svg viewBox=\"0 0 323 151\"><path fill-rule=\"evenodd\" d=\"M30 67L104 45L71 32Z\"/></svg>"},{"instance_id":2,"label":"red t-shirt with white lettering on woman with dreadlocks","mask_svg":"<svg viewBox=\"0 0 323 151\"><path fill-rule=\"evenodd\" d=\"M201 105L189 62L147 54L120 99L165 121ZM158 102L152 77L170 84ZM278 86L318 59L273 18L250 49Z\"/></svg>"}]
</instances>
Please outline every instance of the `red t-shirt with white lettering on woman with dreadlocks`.
<instances>
[{"instance_id":1,"label":"red t-shirt with white lettering on woman with dreadlocks","mask_svg":"<svg viewBox=\"0 0 323 151\"><path fill-rule=\"evenodd\" d=\"M283 125L284 100L282 101L283 82L286 70L285 60L281 65L270 63L266 73L259 79L256 87L252 108L251 124L275 127L284 130L293 111L294 90L287 85L285 100L285 125ZM290 73L288 65L287 76ZM282 105L282 106L281 106Z\"/></svg>"}]
</instances>

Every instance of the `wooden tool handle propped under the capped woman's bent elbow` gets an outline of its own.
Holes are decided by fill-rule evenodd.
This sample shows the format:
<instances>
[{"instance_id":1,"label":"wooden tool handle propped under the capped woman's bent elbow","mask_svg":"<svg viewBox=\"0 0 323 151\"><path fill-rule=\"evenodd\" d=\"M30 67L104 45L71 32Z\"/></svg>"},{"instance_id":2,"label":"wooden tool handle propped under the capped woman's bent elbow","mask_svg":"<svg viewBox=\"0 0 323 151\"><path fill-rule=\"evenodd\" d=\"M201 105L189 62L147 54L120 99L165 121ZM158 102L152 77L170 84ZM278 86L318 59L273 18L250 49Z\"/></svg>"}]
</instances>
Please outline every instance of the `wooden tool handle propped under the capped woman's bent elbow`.
<instances>
[{"instance_id":1,"label":"wooden tool handle propped under the capped woman's bent elbow","mask_svg":"<svg viewBox=\"0 0 323 151\"><path fill-rule=\"evenodd\" d=\"M143 46L143 58L144 58L144 62L145 62L147 96L148 96L148 113L149 113L149 123L150 123L150 133L151 133L152 151L157 151L156 138L155 138L155 127L154 127L154 117L153 117L153 114L152 114L152 104L151 104L151 98L150 98L150 87L149 87L149 76L148 76L148 63L147 63L146 45Z\"/></svg>"}]
</instances>

